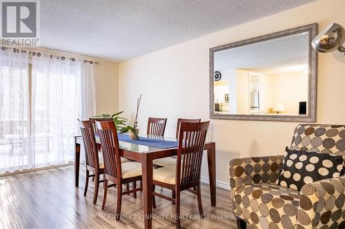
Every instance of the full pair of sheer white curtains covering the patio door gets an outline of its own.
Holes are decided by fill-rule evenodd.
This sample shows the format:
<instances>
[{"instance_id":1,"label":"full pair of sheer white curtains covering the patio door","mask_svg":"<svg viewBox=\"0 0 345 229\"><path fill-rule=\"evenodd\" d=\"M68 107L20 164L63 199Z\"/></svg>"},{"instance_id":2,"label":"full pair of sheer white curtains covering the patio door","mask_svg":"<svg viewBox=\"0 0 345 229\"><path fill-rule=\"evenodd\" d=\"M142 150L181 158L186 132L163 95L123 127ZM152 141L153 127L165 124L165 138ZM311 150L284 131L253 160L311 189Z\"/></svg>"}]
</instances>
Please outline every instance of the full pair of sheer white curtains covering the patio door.
<instances>
[{"instance_id":1,"label":"full pair of sheer white curtains covering the patio door","mask_svg":"<svg viewBox=\"0 0 345 229\"><path fill-rule=\"evenodd\" d=\"M0 50L0 173L72 162L77 118L90 116L92 64Z\"/></svg>"}]
</instances>

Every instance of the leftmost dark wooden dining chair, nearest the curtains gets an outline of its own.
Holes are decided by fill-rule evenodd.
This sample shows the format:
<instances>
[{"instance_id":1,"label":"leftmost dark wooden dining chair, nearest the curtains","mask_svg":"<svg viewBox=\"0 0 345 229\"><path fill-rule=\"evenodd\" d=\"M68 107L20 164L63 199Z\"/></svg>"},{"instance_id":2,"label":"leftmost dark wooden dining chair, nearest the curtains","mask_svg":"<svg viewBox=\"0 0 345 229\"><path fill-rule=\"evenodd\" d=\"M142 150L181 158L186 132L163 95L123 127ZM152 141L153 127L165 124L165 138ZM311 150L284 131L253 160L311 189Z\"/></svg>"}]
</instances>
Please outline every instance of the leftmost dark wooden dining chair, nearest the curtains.
<instances>
[{"instance_id":1,"label":"leftmost dark wooden dining chair, nearest the curtains","mask_svg":"<svg viewBox=\"0 0 345 229\"><path fill-rule=\"evenodd\" d=\"M97 202L99 183L103 180L99 179L99 176L104 173L104 166L102 162L99 162L97 144L95 140L95 132L92 128L90 121L79 121L79 127L81 135L83 136L83 142L85 146L85 157L86 157L86 182L84 196L88 192L88 180L90 177L95 178L95 191L93 195L93 204ZM90 174L90 172L92 174Z\"/></svg>"}]
</instances>

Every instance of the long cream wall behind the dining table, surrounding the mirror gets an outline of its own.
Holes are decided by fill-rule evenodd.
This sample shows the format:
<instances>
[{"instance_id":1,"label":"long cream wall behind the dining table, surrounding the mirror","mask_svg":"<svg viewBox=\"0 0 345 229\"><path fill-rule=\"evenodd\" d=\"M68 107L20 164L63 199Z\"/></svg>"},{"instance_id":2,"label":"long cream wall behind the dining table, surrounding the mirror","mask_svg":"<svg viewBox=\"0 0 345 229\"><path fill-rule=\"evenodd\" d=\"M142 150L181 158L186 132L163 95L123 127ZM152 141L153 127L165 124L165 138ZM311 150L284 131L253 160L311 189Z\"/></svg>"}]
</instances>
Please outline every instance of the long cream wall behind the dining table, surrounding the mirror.
<instances>
[{"instance_id":1,"label":"long cream wall behind the dining table, surrounding the mirror","mask_svg":"<svg viewBox=\"0 0 345 229\"><path fill-rule=\"evenodd\" d=\"M345 1L331 2L317 1L120 63L120 109L133 118L136 98L143 94L139 111L142 133L149 116L168 118L166 135L175 135L175 122L179 117L209 120L210 47L315 22L319 28L331 22L345 26ZM317 122L345 123L344 72L345 56L337 52L319 54ZM208 138L217 146L217 180L228 184L231 158L282 154L290 144L296 124L211 120ZM202 175L207 177L205 168Z\"/></svg>"}]
</instances>

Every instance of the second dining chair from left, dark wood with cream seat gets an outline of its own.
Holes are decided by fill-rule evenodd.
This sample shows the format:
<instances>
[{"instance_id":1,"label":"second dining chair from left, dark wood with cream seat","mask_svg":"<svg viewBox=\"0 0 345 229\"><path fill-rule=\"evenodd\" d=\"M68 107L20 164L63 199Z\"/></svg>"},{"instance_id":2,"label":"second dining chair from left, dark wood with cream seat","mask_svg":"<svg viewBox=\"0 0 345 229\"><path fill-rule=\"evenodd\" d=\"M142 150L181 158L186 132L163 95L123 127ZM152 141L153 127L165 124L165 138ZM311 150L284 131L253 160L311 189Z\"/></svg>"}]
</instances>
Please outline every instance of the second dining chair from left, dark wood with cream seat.
<instances>
[{"instance_id":1,"label":"second dining chair from left, dark wood with cream seat","mask_svg":"<svg viewBox=\"0 0 345 229\"><path fill-rule=\"evenodd\" d=\"M102 210L106 206L108 188L117 186L116 220L119 220L122 196L133 193L133 197L136 197L137 191L142 190L141 187L137 188L136 186L136 182L141 181L141 163L121 163L119 140L117 139L117 130L114 122L96 121L96 125L99 139L101 140L105 175ZM108 182L111 182L112 184L108 185ZM129 184L130 182L132 182L132 190L126 190L123 192L122 184Z\"/></svg>"}]
</instances>

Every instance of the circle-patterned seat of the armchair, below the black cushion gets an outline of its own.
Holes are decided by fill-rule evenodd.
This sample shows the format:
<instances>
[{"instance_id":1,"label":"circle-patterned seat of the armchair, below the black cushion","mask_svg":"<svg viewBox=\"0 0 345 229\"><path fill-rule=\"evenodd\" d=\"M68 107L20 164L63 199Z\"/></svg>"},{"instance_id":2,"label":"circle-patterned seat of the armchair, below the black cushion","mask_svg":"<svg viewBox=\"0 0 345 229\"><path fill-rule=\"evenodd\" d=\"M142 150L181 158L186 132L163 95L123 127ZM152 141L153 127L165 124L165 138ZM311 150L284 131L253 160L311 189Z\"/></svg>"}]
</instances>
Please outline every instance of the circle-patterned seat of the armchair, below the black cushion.
<instances>
[{"instance_id":1,"label":"circle-patterned seat of the armchair, below the black cushion","mask_svg":"<svg viewBox=\"0 0 345 229\"><path fill-rule=\"evenodd\" d=\"M250 184L231 192L235 214L262 228L293 228L297 223L299 191L271 184ZM257 226L255 227L257 228Z\"/></svg>"}]
</instances>

